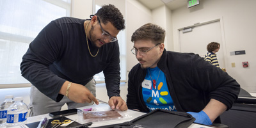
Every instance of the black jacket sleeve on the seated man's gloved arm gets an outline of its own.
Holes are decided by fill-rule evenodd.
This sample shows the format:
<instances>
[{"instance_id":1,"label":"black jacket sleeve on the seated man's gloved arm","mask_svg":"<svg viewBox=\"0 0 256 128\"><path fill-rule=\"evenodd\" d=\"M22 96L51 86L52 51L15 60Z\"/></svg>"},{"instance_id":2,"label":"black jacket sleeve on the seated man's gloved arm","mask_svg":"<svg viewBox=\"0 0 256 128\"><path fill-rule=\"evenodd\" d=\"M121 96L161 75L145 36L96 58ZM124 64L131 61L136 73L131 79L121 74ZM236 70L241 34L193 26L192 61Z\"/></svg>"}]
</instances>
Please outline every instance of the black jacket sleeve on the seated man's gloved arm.
<instances>
[{"instance_id":1,"label":"black jacket sleeve on the seated man's gloved arm","mask_svg":"<svg viewBox=\"0 0 256 128\"><path fill-rule=\"evenodd\" d=\"M195 88L204 90L209 93L209 99L216 99L230 109L240 91L236 80L198 55L194 55L191 61Z\"/></svg>"}]
</instances>

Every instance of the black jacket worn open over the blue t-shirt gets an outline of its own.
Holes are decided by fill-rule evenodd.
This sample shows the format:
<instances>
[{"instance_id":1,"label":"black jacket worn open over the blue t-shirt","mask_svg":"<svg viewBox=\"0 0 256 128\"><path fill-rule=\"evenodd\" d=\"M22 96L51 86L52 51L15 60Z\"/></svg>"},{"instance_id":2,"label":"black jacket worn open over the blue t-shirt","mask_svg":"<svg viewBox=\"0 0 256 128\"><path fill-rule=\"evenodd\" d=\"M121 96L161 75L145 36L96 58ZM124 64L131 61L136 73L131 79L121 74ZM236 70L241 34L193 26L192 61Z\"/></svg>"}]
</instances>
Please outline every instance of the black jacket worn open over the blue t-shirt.
<instances>
[{"instance_id":1,"label":"black jacket worn open over the blue t-shirt","mask_svg":"<svg viewBox=\"0 0 256 128\"><path fill-rule=\"evenodd\" d=\"M227 72L211 65L193 53L171 52L164 49L157 63L166 76L170 95L177 111L199 112L210 99L223 102L228 109L240 91L240 85ZM148 112L142 97L141 83L147 70L135 65L129 72L127 106Z\"/></svg>"}]
</instances>

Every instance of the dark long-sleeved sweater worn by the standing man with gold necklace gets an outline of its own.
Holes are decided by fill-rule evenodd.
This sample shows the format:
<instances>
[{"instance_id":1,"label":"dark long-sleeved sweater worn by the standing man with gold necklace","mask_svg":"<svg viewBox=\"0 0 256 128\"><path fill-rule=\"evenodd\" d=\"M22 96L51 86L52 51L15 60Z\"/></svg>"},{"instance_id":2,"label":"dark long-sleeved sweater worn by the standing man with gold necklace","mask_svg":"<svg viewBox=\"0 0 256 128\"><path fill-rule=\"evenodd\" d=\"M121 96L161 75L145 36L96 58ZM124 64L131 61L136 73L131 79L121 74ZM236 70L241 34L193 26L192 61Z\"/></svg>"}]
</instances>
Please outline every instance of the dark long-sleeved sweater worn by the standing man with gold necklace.
<instances>
[{"instance_id":1,"label":"dark long-sleeved sweater worn by the standing man with gold necklace","mask_svg":"<svg viewBox=\"0 0 256 128\"><path fill-rule=\"evenodd\" d=\"M52 100L60 101L65 81L85 85L103 70L108 96L119 95L118 42L108 43L92 57L88 51L84 21L71 17L53 20L36 36L22 58L22 76ZM93 55L98 48L88 40Z\"/></svg>"}]
</instances>

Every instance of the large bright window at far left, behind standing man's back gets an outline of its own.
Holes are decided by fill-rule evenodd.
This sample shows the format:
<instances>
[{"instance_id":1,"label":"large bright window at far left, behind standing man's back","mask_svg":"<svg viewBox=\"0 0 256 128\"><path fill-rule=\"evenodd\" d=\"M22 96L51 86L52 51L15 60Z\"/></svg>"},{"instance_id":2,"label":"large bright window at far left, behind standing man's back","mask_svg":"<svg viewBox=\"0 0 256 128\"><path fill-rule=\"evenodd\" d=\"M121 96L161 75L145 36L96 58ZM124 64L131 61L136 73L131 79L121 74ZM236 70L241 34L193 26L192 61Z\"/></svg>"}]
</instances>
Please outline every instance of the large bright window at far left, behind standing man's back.
<instances>
[{"instance_id":1,"label":"large bright window at far left, behind standing man's back","mask_svg":"<svg viewBox=\"0 0 256 128\"><path fill-rule=\"evenodd\" d=\"M0 84L29 83L20 74L29 43L51 20L70 16L70 0L0 1Z\"/></svg>"}]
</instances>

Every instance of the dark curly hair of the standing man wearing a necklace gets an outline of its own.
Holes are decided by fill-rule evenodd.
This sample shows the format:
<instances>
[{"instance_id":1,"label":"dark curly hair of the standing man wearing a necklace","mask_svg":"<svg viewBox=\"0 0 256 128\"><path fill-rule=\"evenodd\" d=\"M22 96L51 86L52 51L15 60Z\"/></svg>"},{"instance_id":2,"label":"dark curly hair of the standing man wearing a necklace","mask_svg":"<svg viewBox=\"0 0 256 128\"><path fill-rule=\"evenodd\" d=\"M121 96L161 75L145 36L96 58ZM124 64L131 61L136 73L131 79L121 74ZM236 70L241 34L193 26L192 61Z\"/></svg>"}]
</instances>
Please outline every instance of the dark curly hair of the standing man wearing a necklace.
<instances>
[{"instance_id":1,"label":"dark curly hair of the standing man wearing a necklace","mask_svg":"<svg viewBox=\"0 0 256 128\"><path fill-rule=\"evenodd\" d=\"M100 22L103 24L109 21L116 29L125 29L124 16L113 4L103 5L95 15L100 18Z\"/></svg>"}]
</instances>

